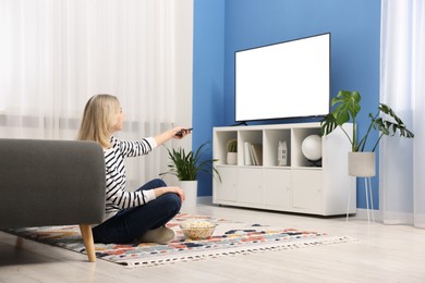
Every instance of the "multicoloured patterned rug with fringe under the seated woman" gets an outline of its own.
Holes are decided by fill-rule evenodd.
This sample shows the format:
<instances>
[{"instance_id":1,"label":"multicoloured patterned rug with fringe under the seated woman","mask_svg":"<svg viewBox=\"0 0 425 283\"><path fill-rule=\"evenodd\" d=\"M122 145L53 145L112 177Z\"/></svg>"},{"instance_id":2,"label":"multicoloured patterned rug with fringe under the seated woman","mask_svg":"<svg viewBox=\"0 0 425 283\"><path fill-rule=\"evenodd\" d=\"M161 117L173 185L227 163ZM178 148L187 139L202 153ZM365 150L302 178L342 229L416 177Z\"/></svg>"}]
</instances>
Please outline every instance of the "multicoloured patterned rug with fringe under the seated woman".
<instances>
[{"instance_id":1,"label":"multicoloured patterned rug with fringe under the seated woman","mask_svg":"<svg viewBox=\"0 0 425 283\"><path fill-rule=\"evenodd\" d=\"M218 224L210 238L191 241L184 237L179 224L194 219L209 220ZM135 268L355 241L348 236L329 236L315 231L274 227L258 223L246 224L185 213L178 214L168 223L168 226L177 233L177 237L168 245L150 243L95 244L96 257ZM7 232L85 254L78 226L44 226L7 230Z\"/></svg>"}]
</instances>

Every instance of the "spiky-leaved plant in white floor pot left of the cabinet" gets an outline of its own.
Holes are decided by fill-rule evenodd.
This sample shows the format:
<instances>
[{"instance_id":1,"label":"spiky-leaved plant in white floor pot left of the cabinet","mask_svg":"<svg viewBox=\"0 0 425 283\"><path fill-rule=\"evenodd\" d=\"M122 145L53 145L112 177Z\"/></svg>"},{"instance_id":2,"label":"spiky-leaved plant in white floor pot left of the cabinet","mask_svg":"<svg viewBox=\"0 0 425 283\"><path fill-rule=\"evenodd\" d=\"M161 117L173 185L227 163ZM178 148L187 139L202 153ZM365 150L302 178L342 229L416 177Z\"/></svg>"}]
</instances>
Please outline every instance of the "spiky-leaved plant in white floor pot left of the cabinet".
<instances>
[{"instance_id":1,"label":"spiky-leaved plant in white floor pot left of the cabinet","mask_svg":"<svg viewBox=\"0 0 425 283\"><path fill-rule=\"evenodd\" d=\"M185 192L186 200L185 207L194 207L196 205L197 197L197 174L199 172L211 172L212 175L217 175L221 181L219 172L212 167L212 163L218 161L217 159L205 159L202 157L206 152L206 145L208 142L202 144L195 151L184 150L184 148L169 149L167 148L168 156L171 162L168 164L169 170L160 173L159 175L172 174L179 180L179 186Z\"/></svg>"}]
</instances>

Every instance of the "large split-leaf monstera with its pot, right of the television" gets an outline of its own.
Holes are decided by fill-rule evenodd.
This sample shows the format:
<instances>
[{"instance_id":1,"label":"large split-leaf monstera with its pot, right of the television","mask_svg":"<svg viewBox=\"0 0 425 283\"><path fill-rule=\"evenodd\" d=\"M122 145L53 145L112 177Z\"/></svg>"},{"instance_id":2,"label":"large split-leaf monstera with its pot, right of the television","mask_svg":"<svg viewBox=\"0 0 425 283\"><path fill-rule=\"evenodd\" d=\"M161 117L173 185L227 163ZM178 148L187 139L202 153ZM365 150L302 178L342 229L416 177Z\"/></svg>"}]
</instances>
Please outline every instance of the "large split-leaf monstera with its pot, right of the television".
<instances>
[{"instance_id":1,"label":"large split-leaf monstera with its pot, right of the television","mask_svg":"<svg viewBox=\"0 0 425 283\"><path fill-rule=\"evenodd\" d=\"M349 91L349 90L340 90L331 100L331 107L333 107L333 111L327 114L323 121L320 122L321 126L321 135L328 135L337 127L341 128L345 136L349 138L351 144L351 151L349 153L349 174L356 176L372 176L375 175L375 149L379 144L379 140L384 135L393 136L396 133L399 133L400 136L405 138L413 138L414 134L406 128L403 121L394 113L394 111L387 104L379 103L378 110L375 114L369 113L368 116L371 119L371 123L367 127L366 133L360 137L357 132L357 114L361 110L360 107L361 95L359 91ZM381 114L385 114L382 116ZM387 120L386 116L391 118ZM352 135L343 128L345 123L352 123L353 130ZM366 152L365 147L367 144L367 139L372 131L378 131L378 138L375 140L369 152ZM362 152L360 155L355 155L354 152ZM362 156L362 157L359 157ZM373 164L366 165L353 165L351 160L354 162L355 160L366 158L369 161L373 160ZM371 169L373 168L373 172L363 172L362 169Z\"/></svg>"}]
</instances>

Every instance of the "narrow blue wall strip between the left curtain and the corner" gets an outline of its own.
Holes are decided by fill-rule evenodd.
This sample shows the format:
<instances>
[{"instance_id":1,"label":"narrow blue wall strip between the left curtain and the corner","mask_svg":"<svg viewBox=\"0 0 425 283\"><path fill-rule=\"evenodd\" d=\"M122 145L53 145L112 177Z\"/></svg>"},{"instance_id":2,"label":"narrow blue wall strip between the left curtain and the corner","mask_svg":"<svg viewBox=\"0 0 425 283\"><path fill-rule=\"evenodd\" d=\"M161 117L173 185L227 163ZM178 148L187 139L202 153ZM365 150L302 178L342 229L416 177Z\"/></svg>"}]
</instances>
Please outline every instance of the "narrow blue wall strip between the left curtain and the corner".
<instances>
[{"instance_id":1,"label":"narrow blue wall strip between the left curtain and the corner","mask_svg":"<svg viewBox=\"0 0 425 283\"><path fill-rule=\"evenodd\" d=\"M224 0L194 0L193 148L212 140L224 114ZM212 143L209 146L210 159ZM198 195L212 194L211 175L198 174Z\"/></svg>"}]
</instances>

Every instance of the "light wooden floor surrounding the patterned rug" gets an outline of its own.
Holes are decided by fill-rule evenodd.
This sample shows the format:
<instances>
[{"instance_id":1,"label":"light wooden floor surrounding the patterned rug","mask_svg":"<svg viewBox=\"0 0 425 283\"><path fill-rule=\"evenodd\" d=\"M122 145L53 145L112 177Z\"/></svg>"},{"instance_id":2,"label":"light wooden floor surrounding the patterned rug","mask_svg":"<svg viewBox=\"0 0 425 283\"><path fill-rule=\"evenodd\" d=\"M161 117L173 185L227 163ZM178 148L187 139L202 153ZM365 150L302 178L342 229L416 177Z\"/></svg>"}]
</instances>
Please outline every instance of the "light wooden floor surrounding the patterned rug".
<instances>
[{"instance_id":1,"label":"light wooden floor surrounding the patterned rug","mask_svg":"<svg viewBox=\"0 0 425 283\"><path fill-rule=\"evenodd\" d=\"M244 222L348 235L355 243L250 256L221 257L169 266L125 269L0 232L0 282L425 282L425 230L368 224L350 218L315 218L218 207L210 198L191 213Z\"/></svg>"}]
</instances>

